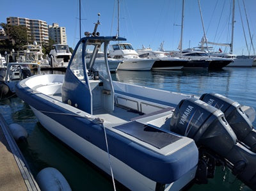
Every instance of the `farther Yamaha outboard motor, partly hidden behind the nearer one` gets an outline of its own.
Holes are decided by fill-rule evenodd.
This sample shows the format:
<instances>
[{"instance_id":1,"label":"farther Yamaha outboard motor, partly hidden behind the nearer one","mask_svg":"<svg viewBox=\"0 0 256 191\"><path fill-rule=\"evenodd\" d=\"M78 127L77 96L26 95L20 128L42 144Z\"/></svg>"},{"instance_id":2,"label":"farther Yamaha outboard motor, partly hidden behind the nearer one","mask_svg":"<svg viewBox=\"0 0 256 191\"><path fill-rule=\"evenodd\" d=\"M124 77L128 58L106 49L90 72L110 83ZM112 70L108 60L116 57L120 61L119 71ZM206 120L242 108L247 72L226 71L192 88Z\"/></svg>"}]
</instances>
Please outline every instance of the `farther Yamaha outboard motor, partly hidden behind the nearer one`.
<instances>
[{"instance_id":1,"label":"farther Yamaha outboard motor, partly hidden behind the nearer one","mask_svg":"<svg viewBox=\"0 0 256 191\"><path fill-rule=\"evenodd\" d=\"M200 100L220 109L225 114L225 118L234 130L237 139L256 153L256 130L239 103L217 93L205 93L200 97Z\"/></svg>"}]
</instances>

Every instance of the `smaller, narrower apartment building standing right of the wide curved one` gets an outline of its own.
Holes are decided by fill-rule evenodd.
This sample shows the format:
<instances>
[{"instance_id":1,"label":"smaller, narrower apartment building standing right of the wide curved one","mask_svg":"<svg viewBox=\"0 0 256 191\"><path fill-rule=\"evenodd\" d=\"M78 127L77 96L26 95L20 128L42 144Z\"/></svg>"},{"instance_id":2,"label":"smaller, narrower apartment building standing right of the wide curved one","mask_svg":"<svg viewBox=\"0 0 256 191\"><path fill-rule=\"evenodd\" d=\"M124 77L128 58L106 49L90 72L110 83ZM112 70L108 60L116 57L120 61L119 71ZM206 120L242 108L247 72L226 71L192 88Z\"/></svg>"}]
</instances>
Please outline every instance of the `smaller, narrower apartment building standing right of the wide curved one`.
<instances>
[{"instance_id":1,"label":"smaller, narrower apartment building standing right of the wide curved one","mask_svg":"<svg viewBox=\"0 0 256 191\"><path fill-rule=\"evenodd\" d=\"M60 27L58 23L49 25L49 37L58 44L67 44L66 28Z\"/></svg>"}]
</instances>

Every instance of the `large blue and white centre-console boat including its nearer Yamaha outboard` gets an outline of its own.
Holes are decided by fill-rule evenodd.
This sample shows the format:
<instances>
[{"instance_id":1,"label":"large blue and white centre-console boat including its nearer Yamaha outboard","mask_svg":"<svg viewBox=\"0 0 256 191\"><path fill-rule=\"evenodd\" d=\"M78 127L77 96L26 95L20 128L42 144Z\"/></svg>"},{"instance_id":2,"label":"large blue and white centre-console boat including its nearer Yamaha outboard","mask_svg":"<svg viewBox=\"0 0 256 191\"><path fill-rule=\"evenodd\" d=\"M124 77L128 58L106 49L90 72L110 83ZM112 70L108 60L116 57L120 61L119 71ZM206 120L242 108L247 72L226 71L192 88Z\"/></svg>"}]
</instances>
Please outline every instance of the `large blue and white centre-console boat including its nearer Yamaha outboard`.
<instances>
[{"instance_id":1,"label":"large blue and white centre-console boat including its nearer Yamaha outboard","mask_svg":"<svg viewBox=\"0 0 256 191\"><path fill-rule=\"evenodd\" d=\"M79 40L65 75L33 75L17 84L17 95L38 121L130 190L205 183L216 161L255 190L256 154L236 137L225 114L195 95L112 81L108 44L125 38L97 36L96 29ZM94 47L90 61L88 45ZM95 62L101 47L104 63ZM254 138L252 132L248 142Z\"/></svg>"}]
</instances>

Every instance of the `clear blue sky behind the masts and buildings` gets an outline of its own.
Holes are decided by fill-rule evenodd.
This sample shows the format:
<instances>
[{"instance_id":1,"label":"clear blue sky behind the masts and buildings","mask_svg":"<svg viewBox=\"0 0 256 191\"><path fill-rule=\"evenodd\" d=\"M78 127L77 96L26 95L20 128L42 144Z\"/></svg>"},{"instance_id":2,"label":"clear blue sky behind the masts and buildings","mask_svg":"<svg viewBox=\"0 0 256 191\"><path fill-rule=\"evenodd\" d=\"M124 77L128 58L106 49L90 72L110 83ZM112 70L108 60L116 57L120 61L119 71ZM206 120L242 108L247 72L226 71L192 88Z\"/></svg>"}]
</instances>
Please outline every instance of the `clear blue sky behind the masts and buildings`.
<instances>
[{"instance_id":1,"label":"clear blue sky behind the masts and buildings","mask_svg":"<svg viewBox=\"0 0 256 191\"><path fill-rule=\"evenodd\" d=\"M248 16L250 33L256 50L256 1L236 0L234 26L234 54L248 55L244 33L253 55L252 43L244 13ZM230 43L232 0L200 0L205 32L209 42ZM239 11L241 8L241 15ZM92 32L97 13L100 13L100 35L117 34L117 0L81 0L81 33ZM164 50L177 50L180 42L182 0L120 0L120 36L127 38L134 49L142 45L153 50L164 42ZM25 17L58 23L66 27L67 42L74 49L79 40L79 0L8 0L1 1L0 22L7 17ZM244 33L243 33L244 26ZM182 48L196 47L204 36L198 0L185 0ZM229 52L229 48L213 46Z\"/></svg>"}]
</instances>

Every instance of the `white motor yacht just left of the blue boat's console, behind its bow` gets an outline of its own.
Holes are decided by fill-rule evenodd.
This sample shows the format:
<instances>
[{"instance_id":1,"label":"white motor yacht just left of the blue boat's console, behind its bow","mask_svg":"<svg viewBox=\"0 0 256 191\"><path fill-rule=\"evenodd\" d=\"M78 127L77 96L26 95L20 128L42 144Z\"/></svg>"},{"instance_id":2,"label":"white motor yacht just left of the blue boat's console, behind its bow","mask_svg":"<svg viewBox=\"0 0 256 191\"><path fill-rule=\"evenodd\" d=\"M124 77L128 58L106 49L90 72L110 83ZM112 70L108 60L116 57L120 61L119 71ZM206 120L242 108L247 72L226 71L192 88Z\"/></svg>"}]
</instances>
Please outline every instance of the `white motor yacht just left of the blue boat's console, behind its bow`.
<instances>
[{"instance_id":1,"label":"white motor yacht just left of the blue boat's console, behind its bow","mask_svg":"<svg viewBox=\"0 0 256 191\"><path fill-rule=\"evenodd\" d=\"M52 68L67 68L71 56L72 54L69 51L68 45L55 44L52 45L52 50L49 53L49 63L52 66Z\"/></svg>"}]
</instances>

